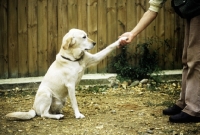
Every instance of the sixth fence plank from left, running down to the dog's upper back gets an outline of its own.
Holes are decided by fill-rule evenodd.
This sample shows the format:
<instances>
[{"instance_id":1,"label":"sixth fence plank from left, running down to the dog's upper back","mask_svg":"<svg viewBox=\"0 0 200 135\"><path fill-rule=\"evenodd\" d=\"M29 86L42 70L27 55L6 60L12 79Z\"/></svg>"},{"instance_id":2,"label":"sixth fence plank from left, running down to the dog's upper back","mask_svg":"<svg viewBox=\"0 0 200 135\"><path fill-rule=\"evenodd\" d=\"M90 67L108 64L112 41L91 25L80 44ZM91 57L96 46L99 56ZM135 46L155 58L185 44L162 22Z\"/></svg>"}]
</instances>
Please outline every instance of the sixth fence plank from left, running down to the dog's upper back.
<instances>
[{"instance_id":1,"label":"sixth fence plank from left, running down to the dog's upper back","mask_svg":"<svg viewBox=\"0 0 200 135\"><path fill-rule=\"evenodd\" d=\"M49 0L48 1L48 37L47 37L47 45L48 45L48 66L52 64L52 62L56 58L56 54L58 52L57 44L58 44L58 34L57 34L57 1Z\"/></svg>"}]
</instances>

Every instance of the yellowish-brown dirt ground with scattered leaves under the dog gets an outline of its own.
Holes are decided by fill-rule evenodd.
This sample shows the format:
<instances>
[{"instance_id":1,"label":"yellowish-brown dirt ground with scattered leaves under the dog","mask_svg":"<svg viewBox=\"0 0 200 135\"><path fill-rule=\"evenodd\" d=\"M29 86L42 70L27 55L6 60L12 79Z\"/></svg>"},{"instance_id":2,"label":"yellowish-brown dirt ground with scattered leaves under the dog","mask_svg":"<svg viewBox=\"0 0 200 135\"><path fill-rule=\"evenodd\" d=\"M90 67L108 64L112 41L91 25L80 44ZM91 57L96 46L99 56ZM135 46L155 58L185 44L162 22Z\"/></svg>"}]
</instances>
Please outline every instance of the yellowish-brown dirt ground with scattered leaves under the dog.
<instances>
[{"instance_id":1,"label":"yellowish-brown dirt ground with scattered leaves under the dog","mask_svg":"<svg viewBox=\"0 0 200 135\"><path fill-rule=\"evenodd\" d=\"M197 135L200 123L174 124L162 110L178 99L179 83L140 87L79 87L77 101L86 116L75 119L70 101L61 120L35 117L8 121L13 111L28 111L35 90L0 92L0 134L2 135Z\"/></svg>"}]
</instances>

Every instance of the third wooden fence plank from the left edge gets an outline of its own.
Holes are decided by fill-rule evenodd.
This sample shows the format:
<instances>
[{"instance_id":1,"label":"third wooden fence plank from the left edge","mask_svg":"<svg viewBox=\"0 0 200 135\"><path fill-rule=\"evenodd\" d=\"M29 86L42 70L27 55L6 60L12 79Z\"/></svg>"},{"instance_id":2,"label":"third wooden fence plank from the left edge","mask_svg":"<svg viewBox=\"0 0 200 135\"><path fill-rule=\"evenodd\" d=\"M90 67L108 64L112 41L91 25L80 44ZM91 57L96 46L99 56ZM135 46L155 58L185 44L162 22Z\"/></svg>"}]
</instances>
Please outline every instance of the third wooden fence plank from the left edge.
<instances>
[{"instance_id":1,"label":"third wooden fence plank from the left edge","mask_svg":"<svg viewBox=\"0 0 200 135\"><path fill-rule=\"evenodd\" d=\"M19 77L28 76L27 0L18 0Z\"/></svg>"}]
</instances>

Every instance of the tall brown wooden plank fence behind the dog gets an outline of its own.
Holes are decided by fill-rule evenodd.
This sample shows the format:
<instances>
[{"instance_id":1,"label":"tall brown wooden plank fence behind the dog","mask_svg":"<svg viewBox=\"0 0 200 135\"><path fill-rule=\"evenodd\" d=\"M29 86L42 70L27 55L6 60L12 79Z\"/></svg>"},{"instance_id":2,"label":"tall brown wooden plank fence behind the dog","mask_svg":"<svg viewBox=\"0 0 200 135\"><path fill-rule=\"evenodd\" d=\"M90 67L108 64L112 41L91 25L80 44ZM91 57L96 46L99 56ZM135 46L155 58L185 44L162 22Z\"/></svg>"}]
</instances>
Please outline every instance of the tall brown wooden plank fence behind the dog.
<instances>
[{"instance_id":1,"label":"tall brown wooden plank fence behind the dog","mask_svg":"<svg viewBox=\"0 0 200 135\"><path fill-rule=\"evenodd\" d=\"M0 0L0 78L44 75L71 28L86 31L97 42L91 53L102 50L137 24L148 10L148 1ZM168 39L170 47L159 50L160 67L181 68L183 27L183 20L167 1L157 19L128 45L128 50L135 52L136 44L147 38ZM117 49L109 58L119 52ZM109 72L109 58L87 72Z\"/></svg>"}]
</instances>

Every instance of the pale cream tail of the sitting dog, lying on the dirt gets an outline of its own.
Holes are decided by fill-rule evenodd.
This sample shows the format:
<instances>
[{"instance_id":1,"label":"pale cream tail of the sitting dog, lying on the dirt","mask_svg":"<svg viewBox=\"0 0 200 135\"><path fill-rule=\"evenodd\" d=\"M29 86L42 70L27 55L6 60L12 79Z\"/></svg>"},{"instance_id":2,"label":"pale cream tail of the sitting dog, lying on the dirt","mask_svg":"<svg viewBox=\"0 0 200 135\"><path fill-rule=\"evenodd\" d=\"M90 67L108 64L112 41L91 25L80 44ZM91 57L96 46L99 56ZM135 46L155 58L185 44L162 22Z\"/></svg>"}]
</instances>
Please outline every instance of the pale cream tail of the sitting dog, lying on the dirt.
<instances>
[{"instance_id":1,"label":"pale cream tail of the sitting dog, lying on the dirt","mask_svg":"<svg viewBox=\"0 0 200 135\"><path fill-rule=\"evenodd\" d=\"M7 120L29 120L36 116L35 110L29 112L13 112L6 115Z\"/></svg>"}]
</instances>

